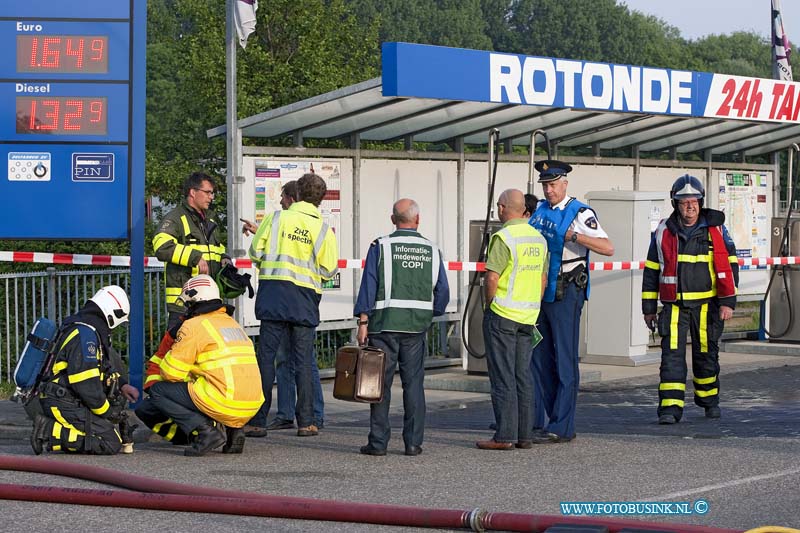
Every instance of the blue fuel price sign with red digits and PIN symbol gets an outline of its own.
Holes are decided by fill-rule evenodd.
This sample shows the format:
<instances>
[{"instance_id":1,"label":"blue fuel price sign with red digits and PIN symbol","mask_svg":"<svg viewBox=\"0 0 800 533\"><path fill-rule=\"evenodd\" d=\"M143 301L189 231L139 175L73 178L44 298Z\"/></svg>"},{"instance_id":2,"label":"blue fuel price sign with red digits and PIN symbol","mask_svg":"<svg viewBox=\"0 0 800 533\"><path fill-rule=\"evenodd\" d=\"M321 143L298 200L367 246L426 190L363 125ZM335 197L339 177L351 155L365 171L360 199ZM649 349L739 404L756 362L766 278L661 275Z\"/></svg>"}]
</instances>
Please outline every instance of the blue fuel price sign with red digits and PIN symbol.
<instances>
[{"instance_id":1,"label":"blue fuel price sign with red digits and PIN symbol","mask_svg":"<svg viewBox=\"0 0 800 533\"><path fill-rule=\"evenodd\" d=\"M0 238L130 238L145 24L146 0L0 1Z\"/></svg>"}]
</instances>

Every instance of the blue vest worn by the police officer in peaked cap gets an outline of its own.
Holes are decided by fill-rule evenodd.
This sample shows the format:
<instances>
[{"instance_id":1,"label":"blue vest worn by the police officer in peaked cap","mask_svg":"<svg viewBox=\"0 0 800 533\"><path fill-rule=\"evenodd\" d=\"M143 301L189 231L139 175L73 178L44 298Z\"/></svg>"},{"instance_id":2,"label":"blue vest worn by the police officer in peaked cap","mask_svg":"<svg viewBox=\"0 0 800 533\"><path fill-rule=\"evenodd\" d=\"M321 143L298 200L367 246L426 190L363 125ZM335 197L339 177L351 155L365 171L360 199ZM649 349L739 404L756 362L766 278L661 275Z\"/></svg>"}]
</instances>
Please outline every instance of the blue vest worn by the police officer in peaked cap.
<instances>
[{"instance_id":1,"label":"blue vest worn by the police officer in peaked cap","mask_svg":"<svg viewBox=\"0 0 800 533\"><path fill-rule=\"evenodd\" d=\"M538 229L542 236L547 240L547 250L550 252L550 266L547 270L547 287L544 291L542 301L553 302L556 297L556 281L561 272L561 256L564 253L564 235L567 233L570 224L578 216L581 208L590 207L575 198L567 202L564 209L553 209L547 200L539 202L536 211L531 216L530 225ZM589 273L589 252L584 258L586 273ZM586 285L586 297L589 297L589 285Z\"/></svg>"}]
</instances>

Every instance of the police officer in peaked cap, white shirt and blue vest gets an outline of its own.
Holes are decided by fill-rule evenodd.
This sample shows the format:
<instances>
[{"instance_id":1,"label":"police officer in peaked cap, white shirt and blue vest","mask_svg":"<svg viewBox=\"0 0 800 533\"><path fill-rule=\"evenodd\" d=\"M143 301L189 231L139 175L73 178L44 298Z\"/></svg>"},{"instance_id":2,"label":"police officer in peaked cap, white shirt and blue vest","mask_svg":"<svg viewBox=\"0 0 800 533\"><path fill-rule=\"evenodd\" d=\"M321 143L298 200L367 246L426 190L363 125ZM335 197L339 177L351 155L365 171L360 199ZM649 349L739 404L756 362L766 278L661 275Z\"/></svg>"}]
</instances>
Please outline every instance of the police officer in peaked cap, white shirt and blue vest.
<instances>
[{"instance_id":1,"label":"police officer in peaked cap, white shirt and blue vest","mask_svg":"<svg viewBox=\"0 0 800 533\"><path fill-rule=\"evenodd\" d=\"M542 299L542 341L531 362L534 375L534 444L569 442L575 437L578 401L578 338L583 303L589 297L589 252L613 255L614 245L594 210L567 195L572 167L538 161L544 199L530 224L547 240L550 263Z\"/></svg>"}]
</instances>

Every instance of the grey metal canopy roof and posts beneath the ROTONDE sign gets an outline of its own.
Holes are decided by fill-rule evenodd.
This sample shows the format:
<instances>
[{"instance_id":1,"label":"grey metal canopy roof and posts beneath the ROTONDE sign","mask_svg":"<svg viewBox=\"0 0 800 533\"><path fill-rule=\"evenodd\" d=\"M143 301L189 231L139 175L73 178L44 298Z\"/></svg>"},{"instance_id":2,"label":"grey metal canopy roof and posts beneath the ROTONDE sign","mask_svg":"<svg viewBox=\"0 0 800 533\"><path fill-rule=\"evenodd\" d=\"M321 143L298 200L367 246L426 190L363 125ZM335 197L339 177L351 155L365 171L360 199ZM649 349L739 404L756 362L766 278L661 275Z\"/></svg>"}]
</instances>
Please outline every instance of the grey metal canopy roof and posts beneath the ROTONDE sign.
<instances>
[{"instance_id":1,"label":"grey metal canopy roof and posts beneath the ROTONDE sign","mask_svg":"<svg viewBox=\"0 0 800 533\"><path fill-rule=\"evenodd\" d=\"M525 104L451 101L434 98L406 98L383 95L382 79L373 78L342 89L308 98L237 122L233 135L226 126L207 131L209 138L226 135L235 144L233 168L241 169L241 157L338 157L353 160L353 257L360 250L360 168L362 158L455 160L457 162L457 261L464 261L464 169L466 162L488 161L484 152L466 150L469 145L485 145L493 128L500 129L503 147L501 162L527 162L530 155L513 153L514 146L529 146L536 130L548 133L552 156L560 147L587 148L591 156L572 157L570 163L626 165L633 167L633 190L639 188L641 167L696 168L711 177L714 156L726 160L731 170L765 170L779 176L778 151L800 137L800 125L781 122L681 117L649 113L597 111ZM243 138L281 139L282 146L244 146ZM291 138L291 146L286 139ZM309 148L307 139L339 140L347 148ZM233 143L230 141L233 140ZM402 148L363 149L363 141L397 143ZM415 150L415 143L427 143L438 151ZM604 151L630 150L630 157L604 157ZM642 158L643 153L666 158ZM698 153L702 161L678 160L678 154ZM770 154L769 164L746 163L748 156ZM657 157L658 157L657 156ZM228 180L229 187L242 178ZM776 179L776 182L778 180ZM237 198L229 189L231 220L238 218ZM773 187L773 206L777 212L780 186ZM228 233L228 249L246 253L239 232ZM358 272L354 271L357 286ZM458 286L463 287L458 272ZM459 291L458 310L463 310Z\"/></svg>"}]
</instances>

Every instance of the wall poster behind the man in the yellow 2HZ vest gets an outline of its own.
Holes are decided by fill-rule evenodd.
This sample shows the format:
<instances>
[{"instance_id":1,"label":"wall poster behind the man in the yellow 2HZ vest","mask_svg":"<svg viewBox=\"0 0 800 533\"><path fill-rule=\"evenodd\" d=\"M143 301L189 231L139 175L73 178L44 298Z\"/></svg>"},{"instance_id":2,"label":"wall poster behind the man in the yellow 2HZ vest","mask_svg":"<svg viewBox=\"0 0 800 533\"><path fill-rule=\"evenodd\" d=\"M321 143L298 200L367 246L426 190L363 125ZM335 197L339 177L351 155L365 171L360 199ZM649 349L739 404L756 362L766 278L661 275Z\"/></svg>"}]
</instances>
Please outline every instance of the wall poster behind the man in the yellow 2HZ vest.
<instances>
[{"instance_id":1,"label":"wall poster behind the man in the yellow 2HZ vest","mask_svg":"<svg viewBox=\"0 0 800 533\"><path fill-rule=\"evenodd\" d=\"M281 209L281 189L290 181L312 172L325 180L328 191L319 206L322 220L338 236L341 228L341 165L338 161L302 161L256 159L255 161L255 218L260 224L267 214ZM337 243L341 247L340 240ZM341 256L341 249L339 250ZM341 273L323 282L323 289L340 289Z\"/></svg>"}]
</instances>

